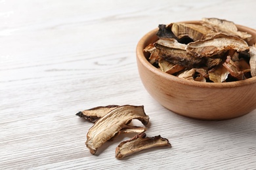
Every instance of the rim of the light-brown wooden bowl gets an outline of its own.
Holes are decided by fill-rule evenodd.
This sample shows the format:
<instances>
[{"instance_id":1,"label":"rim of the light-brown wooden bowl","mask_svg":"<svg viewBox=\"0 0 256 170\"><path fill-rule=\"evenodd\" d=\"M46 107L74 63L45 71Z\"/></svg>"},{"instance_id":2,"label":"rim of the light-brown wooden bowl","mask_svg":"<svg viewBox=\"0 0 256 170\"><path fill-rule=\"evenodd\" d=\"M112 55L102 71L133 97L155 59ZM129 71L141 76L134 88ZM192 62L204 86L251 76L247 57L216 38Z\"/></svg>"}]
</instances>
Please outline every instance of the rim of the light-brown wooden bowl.
<instances>
[{"instance_id":1,"label":"rim of the light-brown wooden bowl","mask_svg":"<svg viewBox=\"0 0 256 170\"><path fill-rule=\"evenodd\" d=\"M200 21L184 21L182 23L199 24ZM255 29L252 29L250 27L245 27L244 25L238 25L238 24L236 24L236 26L238 27L238 30L247 30L249 32L255 32L255 35L256 35ZM146 47L146 45L148 45L148 44L145 44L145 42L151 39L152 37L156 37L157 31L158 31L158 28L155 28L152 31L149 31L148 33L146 33L139 40L136 48L137 59L139 59L140 63L142 63L144 67L146 67L148 70L150 70L154 74L159 75L163 78L172 80L173 82L179 82L184 85L201 87L201 88L234 88L234 87L240 87L240 86L248 86L250 84L256 83L256 76L247 78L245 80L238 80L234 82L197 82L192 80L186 80L184 78L179 78L177 76L169 75L168 73L164 73L163 71L160 71L146 59L146 56L144 55L144 52L143 52L143 49Z\"/></svg>"}]
</instances>

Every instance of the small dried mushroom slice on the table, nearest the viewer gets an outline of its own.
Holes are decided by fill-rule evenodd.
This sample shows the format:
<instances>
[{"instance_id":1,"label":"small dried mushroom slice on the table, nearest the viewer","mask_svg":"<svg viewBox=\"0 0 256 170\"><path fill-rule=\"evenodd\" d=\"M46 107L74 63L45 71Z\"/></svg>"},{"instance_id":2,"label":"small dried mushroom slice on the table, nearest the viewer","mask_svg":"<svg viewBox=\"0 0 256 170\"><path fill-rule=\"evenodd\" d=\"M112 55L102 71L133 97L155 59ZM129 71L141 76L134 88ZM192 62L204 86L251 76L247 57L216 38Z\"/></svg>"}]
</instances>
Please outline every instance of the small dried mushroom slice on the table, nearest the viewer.
<instances>
[{"instance_id":1,"label":"small dried mushroom slice on the table, nearest the viewer","mask_svg":"<svg viewBox=\"0 0 256 170\"><path fill-rule=\"evenodd\" d=\"M146 137L146 133L140 133L132 139L121 142L116 147L116 158L125 158L126 156L130 156L131 154L135 154L141 150L146 150L156 146L171 147L171 143L169 143L168 139L165 139L160 135L155 137Z\"/></svg>"}]
</instances>

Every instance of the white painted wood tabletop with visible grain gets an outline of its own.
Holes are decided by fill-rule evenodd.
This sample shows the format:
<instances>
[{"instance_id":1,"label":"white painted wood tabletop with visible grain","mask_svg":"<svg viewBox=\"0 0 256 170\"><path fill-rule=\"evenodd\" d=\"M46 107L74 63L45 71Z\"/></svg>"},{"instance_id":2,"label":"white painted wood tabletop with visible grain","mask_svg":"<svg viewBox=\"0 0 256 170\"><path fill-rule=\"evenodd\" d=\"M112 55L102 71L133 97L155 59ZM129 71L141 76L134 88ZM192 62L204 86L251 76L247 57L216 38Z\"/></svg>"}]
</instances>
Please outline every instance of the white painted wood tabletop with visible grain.
<instances>
[{"instance_id":1,"label":"white painted wood tabletop with visible grain","mask_svg":"<svg viewBox=\"0 0 256 170\"><path fill-rule=\"evenodd\" d=\"M253 0L1 0L0 169L255 169L256 110L219 122L174 114L146 92L135 59L137 42L158 24L216 17L256 29L255 7ZM116 160L117 144L131 137L121 135L91 155L92 124L75 113L110 104L144 105L147 135L173 147Z\"/></svg>"}]
</instances>

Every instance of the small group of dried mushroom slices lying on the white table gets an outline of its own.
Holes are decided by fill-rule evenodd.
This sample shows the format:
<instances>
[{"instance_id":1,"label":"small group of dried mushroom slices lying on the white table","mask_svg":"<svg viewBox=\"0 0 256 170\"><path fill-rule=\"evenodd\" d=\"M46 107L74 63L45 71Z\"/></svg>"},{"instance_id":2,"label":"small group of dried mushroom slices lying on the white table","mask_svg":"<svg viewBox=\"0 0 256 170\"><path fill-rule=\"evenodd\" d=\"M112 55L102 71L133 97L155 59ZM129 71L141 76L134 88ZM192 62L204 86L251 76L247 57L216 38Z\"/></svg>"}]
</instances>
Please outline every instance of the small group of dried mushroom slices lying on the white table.
<instances>
[{"instance_id":1,"label":"small group of dried mushroom slices lying on the white table","mask_svg":"<svg viewBox=\"0 0 256 170\"><path fill-rule=\"evenodd\" d=\"M137 133L137 135L121 142L116 147L117 159L155 146L171 146L168 139L160 135L146 137L146 133L144 133L146 127L129 125L133 119L140 120L144 126L148 124L149 117L144 112L143 106L108 105L106 107L94 107L83 110L82 112L77 112L76 115L95 123L89 129L85 143L91 154L95 154L102 144L112 140L119 133Z\"/></svg>"}]
</instances>

